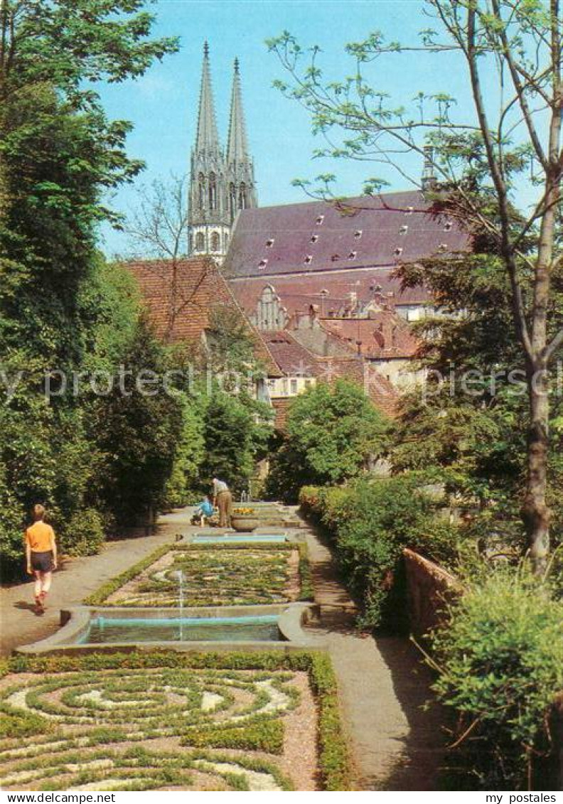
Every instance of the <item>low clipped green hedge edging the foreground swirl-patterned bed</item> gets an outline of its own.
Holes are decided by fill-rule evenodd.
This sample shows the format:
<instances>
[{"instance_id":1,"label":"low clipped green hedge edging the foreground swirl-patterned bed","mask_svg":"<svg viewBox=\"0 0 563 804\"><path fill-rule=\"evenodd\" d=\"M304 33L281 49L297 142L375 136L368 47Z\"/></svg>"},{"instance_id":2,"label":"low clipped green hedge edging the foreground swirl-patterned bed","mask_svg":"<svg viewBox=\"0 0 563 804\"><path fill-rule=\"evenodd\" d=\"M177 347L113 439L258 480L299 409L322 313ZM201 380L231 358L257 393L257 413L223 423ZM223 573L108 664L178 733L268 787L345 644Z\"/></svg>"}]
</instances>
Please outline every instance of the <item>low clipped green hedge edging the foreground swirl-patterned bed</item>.
<instances>
[{"instance_id":1,"label":"low clipped green hedge edging the foreground swirl-patterned bed","mask_svg":"<svg viewBox=\"0 0 563 804\"><path fill-rule=\"evenodd\" d=\"M328 654L322 651L179 654L170 650L138 650L127 654L14 656L0 662L0 677L8 673L45 674L155 667L306 672L318 704L318 765L323 790L352 790L350 758L339 711L335 671Z\"/></svg>"}]
</instances>

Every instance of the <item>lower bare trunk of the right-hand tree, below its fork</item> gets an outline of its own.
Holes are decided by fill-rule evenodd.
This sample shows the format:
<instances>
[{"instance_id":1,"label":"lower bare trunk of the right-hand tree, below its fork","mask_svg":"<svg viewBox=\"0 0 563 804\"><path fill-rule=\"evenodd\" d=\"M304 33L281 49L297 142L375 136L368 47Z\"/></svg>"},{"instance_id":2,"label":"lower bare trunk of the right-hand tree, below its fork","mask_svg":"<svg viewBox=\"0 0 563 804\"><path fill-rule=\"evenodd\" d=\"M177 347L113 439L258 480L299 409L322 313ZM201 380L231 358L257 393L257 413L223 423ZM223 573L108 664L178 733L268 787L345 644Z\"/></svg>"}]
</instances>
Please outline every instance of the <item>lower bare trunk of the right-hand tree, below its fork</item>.
<instances>
[{"instance_id":1,"label":"lower bare trunk of the right-hand tree, below its fork","mask_svg":"<svg viewBox=\"0 0 563 804\"><path fill-rule=\"evenodd\" d=\"M528 476L522 507L522 519L528 533L532 568L536 575L547 569L549 555L549 520L546 502L549 451L549 396L547 371L530 372L531 424L528 431Z\"/></svg>"}]
</instances>

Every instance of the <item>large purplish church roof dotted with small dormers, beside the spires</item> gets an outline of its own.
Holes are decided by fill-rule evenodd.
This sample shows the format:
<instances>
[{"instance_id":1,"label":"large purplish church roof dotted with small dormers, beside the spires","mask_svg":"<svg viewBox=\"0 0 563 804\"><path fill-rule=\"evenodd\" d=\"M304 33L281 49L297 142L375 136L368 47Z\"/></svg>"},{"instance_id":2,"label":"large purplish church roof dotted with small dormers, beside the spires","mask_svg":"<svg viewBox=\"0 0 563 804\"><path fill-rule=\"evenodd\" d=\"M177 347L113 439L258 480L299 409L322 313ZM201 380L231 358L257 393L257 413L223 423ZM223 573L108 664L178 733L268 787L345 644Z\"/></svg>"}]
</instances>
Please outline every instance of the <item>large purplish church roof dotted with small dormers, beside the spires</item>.
<instances>
[{"instance_id":1,"label":"large purplish church roof dotted with small dormers, beside the spires","mask_svg":"<svg viewBox=\"0 0 563 804\"><path fill-rule=\"evenodd\" d=\"M465 251L468 243L453 220L433 214L419 191L294 203L241 211L225 270L232 277L351 274Z\"/></svg>"}]
</instances>

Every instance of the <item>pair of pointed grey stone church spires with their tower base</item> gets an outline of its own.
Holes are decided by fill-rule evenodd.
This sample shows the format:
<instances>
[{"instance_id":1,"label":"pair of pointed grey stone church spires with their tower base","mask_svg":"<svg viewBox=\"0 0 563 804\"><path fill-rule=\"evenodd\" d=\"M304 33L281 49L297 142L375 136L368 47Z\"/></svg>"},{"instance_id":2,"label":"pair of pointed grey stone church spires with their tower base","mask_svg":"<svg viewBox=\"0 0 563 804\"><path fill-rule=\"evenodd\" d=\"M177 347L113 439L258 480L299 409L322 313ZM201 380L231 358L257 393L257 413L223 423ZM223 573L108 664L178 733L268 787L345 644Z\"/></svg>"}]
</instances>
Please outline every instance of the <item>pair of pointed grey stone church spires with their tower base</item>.
<instances>
[{"instance_id":1,"label":"pair of pointed grey stone church spires with their tower base","mask_svg":"<svg viewBox=\"0 0 563 804\"><path fill-rule=\"evenodd\" d=\"M236 215L257 207L254 165L242 108L240 69L235 59L227 150L221 147L213 100L209 46L203 69L195 145L191 151L189 228L191 256L224 260Z\"/></svg>"}]
</instances>

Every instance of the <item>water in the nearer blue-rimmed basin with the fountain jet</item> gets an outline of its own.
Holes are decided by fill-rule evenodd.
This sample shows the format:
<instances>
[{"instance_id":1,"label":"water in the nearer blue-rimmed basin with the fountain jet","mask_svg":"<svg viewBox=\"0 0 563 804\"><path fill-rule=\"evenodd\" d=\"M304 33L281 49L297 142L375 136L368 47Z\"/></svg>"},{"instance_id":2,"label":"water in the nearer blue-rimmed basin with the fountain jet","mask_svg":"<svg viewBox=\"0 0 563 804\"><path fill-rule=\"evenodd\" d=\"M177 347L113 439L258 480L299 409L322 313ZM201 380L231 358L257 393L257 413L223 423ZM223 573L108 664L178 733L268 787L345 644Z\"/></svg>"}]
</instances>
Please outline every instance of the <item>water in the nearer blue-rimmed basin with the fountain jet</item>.
<instances>
[{"instance_id":1,"label":"water in the nearer blue-rimmed basin with the fountain jet","mask_svg":"<svg viewBox=\"0 0 563 804\"><path fill-rule=\"evenodd\" d=\"M258 617L94 617L75 644L111 642L279 642L279 615Z\"/></svg>"}]
</instances>

